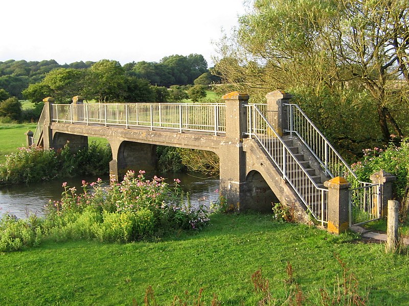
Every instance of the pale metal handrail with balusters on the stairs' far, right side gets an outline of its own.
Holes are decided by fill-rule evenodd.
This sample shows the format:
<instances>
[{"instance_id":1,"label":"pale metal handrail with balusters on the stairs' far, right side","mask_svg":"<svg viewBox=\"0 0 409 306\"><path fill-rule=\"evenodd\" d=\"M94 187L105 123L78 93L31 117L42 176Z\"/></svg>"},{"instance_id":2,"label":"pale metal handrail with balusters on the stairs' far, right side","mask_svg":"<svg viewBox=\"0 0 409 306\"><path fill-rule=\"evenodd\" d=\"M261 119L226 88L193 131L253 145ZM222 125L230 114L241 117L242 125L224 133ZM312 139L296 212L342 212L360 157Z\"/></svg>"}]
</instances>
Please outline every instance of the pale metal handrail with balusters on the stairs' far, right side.
<instances>
[{"instance_id":1,"label":"pale metal handrail with balusters on the stairs' far, right side","mask_svg":"<svg viewBox=\"0 0 409 306\"><path fill-rule=\"evenodd\" d=\"M340 156L338 151L331 145L331 143L328 141L328 139L324 136L323 133L316 127L316 125L311 121L311 119L303 112L303 110L300 108L299 105L297 104L284 104L284 106L288 107L288 129L284 130L285 132L289 132L290 135L292 133L296 134L299 139L303 142L303 144L308 148L308 150L311 152L311 154L315 157L315 159L320 163L320 165L324 168L325 173L332 178L335 176L343 176L346 177L349 175L352 175L355 180L357 180L359 183L365 183L368 184L367 182L360 182L358 180L357 175L355 172L350 168L350 166L345 162L345 160ZM316 141L315 143L311 143L311 141L308 141L306 139L306 135L302 135L301 129L297 129L295 125L297 125L297 122L294 122L294 108L302 115L303 119L306 121L308 124L307 131L309 131L310 135L314 133L312 140L315 140L316 138L319 138L319 141ZM299 121L298 121L299 122ZM312 131L311 131L312 130ZM312 132L312 133L311 133ZM311 138L310 138L311 140ZM317 143L321 142L321 143ZM324 152L320 150L316 150L314 148L323 146L324 144ZM330 165L330 157L335 156L336 159L338 160L337 163L338 167L332 167ZM342 164L344 168L344 171L340 171L339 164ZM348 173L346 173L348 172Z\"/></svg>"}]
</instances>

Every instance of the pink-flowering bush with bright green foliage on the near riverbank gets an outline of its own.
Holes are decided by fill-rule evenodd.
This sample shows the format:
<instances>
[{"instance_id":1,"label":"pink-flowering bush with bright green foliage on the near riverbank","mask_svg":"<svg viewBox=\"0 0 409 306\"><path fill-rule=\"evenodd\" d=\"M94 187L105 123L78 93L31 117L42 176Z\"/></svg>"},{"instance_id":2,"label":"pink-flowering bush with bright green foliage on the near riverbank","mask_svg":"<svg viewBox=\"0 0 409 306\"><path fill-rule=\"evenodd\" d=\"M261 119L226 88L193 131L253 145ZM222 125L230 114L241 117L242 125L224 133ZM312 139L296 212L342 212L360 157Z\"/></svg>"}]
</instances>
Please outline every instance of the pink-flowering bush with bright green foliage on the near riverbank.
<instances>
[{"instance_id":1,"label":"pink-flowering bush with bright green foliage on the near riverbank","mask_svg":"<svg viewBox=\"0 0 409 306\"><path fill-rule=\"evenodd\" d=\"M185 203L180 181L169 185L163 177L146 180L145 171L128 171L121 183L104 186L83 181L84 192L63 183L60 201L50 202L48 220L58 240L96 238L102 242L129 242L168 232L171 228L197 229L209 221L205 207ZM83 216L85 214L85 216Z\"/></svg>"}]
</instances>

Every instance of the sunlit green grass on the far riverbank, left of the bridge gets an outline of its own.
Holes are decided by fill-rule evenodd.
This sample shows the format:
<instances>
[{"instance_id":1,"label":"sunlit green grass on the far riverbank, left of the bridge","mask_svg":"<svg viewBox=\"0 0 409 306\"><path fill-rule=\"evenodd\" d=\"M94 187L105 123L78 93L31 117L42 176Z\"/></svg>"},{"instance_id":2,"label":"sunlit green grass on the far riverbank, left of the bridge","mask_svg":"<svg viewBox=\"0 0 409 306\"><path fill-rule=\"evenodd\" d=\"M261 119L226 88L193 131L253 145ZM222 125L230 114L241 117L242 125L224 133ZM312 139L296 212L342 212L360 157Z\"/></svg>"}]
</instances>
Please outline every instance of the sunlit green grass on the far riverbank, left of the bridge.
<instances>
[{"instance_id":1,"label":"sunlit green grass on the far riverbank, left of the bridge","mask_svg":"<svg viewBox=\"0 0 409 306\"><path fill-rule=\"evenodd\" d=\"M2 124L0 125L0 164L6 160L6 155L14 152L18 147L26 145L26 133L35 131L37 123Z\"/></svg>"}]
</instances>

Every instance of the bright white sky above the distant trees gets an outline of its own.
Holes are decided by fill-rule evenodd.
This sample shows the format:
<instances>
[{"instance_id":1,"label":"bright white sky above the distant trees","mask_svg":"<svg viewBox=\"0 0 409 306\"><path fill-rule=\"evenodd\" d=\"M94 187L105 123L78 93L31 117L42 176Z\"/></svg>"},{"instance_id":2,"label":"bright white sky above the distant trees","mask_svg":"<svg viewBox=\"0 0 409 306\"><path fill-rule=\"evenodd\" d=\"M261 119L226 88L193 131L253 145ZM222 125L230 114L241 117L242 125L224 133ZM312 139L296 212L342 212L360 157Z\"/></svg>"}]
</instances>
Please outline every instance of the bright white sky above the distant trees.
<instances>
[{"instance_id":1,"label":"bright white sky above the distant trees","mask_svg":"<svg viewBox=\"0 0 409 306\"><path fill-rule=\"evenodd\" d=\"M0 61L158 62L203 55L230 33L243 0L3 0Z\"/></svg>"}]
</instances>

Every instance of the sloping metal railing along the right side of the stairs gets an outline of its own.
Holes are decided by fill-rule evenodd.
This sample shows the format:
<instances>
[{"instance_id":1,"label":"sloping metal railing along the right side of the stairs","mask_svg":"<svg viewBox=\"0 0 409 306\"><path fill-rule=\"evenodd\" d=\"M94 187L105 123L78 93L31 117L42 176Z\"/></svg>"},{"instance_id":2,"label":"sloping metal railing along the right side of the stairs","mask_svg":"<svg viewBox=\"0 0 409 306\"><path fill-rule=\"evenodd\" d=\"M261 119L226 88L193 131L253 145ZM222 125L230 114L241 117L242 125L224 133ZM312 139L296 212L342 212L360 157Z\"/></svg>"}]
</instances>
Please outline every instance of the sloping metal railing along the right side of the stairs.
<instances>
[{"instance_id":1,"label":"sloping metal railing along the right side of the stairs","mask_svg":"<svg viewBox=\"0 0 409 306\"><path fill-rule=\"evenodd\" d=\"M288 107L288 129L285 132L289 132L290 135L295 133L300 138L324 168L326 175L345 178L352 175L355 180L358 180L354 171L301 108L297 104L284 104L284 106Z\"/></svg>"}]
</instances>

